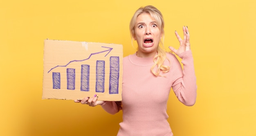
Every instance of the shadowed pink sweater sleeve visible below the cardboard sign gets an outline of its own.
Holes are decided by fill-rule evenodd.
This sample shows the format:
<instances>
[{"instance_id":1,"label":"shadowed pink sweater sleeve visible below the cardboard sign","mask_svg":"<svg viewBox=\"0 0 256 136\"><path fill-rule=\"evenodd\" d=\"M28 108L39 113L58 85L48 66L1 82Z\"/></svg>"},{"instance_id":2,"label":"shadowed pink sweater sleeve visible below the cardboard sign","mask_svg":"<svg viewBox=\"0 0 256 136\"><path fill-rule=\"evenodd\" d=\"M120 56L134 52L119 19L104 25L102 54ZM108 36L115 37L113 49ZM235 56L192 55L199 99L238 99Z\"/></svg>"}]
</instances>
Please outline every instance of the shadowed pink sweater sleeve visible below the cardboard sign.
<instances>
[{"instance_id":1,"label":"shadowed pink sweater sleeve visible below the cardboard sign","mask_svg":"<svg viewBox=\"0 0 256 136\"><path fill-rule=\"evenodd\" d=\"M116 114L122 110L122 103L121 101L104 101L101 107L110 114Z\"/></svg>"}]
</instances>

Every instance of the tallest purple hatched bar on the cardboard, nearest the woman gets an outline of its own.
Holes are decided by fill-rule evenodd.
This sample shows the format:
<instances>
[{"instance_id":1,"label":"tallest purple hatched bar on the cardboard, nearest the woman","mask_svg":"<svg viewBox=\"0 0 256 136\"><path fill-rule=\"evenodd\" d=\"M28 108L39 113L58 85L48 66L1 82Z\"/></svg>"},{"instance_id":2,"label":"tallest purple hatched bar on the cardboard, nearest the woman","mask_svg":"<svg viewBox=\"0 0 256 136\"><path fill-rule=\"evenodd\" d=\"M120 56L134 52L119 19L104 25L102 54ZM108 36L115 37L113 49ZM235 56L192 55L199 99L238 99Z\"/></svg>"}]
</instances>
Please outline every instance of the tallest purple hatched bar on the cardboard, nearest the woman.
<instances>
[{"instance_id":1,"label":"tallest purple hatched bar on the cardboard, nearest the woman","mask_svg":"<svg viewBox=\"0 0 256 136\"><path fill-rule=\"evenodd\" d=\"M119 57L110 57L109 94L118 94Z\"/></svg>"}]
</instances>

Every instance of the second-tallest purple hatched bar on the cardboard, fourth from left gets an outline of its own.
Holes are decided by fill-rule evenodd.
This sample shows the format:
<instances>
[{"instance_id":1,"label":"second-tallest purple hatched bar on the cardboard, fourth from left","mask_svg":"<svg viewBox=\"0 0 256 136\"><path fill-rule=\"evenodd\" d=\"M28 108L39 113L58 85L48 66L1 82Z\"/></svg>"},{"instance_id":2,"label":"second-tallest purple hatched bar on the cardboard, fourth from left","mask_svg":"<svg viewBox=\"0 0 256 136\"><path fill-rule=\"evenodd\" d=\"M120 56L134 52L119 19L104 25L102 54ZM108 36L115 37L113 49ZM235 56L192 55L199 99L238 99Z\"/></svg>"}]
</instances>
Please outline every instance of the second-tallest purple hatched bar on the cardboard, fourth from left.
<instances>
[{"instance_id":1,"label":"second-tallest purple hatched bar on the cardboard, fourth from left","mask_svg":"<svg viewBox=\"0 0 256 136\"><path fill-rule=\"evenodd\" d=\"M96 61L96 92L105 90L105 61Z\"/></svg>"}]
</instances>

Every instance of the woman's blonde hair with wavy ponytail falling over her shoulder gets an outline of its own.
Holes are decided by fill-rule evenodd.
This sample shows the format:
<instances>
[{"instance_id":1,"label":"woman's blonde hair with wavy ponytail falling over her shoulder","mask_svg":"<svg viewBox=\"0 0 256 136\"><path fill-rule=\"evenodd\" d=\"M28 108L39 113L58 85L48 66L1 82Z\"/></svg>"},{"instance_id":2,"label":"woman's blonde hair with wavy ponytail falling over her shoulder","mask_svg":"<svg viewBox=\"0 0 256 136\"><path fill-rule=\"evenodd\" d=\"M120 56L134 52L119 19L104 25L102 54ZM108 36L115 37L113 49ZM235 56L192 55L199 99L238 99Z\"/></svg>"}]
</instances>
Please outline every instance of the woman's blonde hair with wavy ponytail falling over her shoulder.
<instances>
[{"instance_id":1,"label":"woman's blonde hair with wavy ponytail falling over her shoulder","mask_svg":"<svg viewBox=\"0 0 256 136\"><path fill-rule=\"evenodd\" d=\"M151 15L151 17L153 17L155 19L155 21L157 22L157 25L159 26L160 31L162 32L163 39L164 39L164 19L163 19L163 15L156 7L151 6L151 5L146 6L146 7L140 7L139 9L137 9L137 11L132 16L132 19L130 20L130 34L131 34L131 36L135 37L134 29L135 29L137 17L141 13L149 13ZM155 76L162 76L162 75L159 75L161 70L164 73L166 73L170 70L170 66L163 65L164 60L166 59L166 51L164 50L164 44L163 44L162 41L160 41L159 44L161 44L162 46L159 46L159 45L157 46L157 55L155 55L155 57L153 59L155 64L151 67L151 72ZM169 59L168 59L168 61L169 61ZM154 71L155 66L157 66L156 71Z\"/></svg>"}]
</instances>

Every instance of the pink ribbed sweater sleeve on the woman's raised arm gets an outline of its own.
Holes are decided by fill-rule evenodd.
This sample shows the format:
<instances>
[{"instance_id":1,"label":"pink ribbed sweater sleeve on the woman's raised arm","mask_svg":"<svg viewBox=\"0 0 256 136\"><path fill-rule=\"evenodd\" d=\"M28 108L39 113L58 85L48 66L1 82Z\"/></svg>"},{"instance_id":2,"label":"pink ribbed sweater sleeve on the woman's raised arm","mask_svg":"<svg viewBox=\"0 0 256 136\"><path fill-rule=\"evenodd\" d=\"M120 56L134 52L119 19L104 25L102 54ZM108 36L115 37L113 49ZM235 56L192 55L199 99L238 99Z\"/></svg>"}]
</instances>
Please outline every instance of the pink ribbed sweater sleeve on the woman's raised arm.
<instances>
[{"instance_id":1,"label":"pink ribbed sweater sleeve on the woman's raised arm","mask_svg":"<svg viewBox=\"0 0 256 136\"><path fill-rule=\"evenodd\" d=\"M173 91L175 92L176 97L184 105L192 106L195 104L196 95L197 95L197 85L195 77L195 69L193 64L193 57L191 50L185 51L180 54L179 57L182 59L181 63L183 64L183 70L180 66L179 61L175 57L174 63L179 63L174 67L173 76Z\"/></svg>"}]
</instances>

